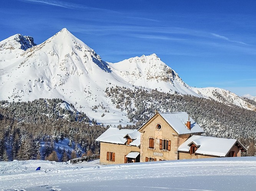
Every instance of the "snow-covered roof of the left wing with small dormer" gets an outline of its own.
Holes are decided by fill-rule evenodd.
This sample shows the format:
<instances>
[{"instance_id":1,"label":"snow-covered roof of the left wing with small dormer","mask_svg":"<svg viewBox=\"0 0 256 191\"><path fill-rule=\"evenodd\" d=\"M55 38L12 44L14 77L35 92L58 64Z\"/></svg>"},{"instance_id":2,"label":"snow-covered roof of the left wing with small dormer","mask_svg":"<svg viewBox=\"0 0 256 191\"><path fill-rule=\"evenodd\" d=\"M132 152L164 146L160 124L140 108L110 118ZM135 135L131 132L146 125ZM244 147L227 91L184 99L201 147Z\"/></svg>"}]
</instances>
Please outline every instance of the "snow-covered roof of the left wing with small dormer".
<instances>
[{"instance_id":1,"label":"snow-covered roof of the left wing with small dormer","mask_svg":"<svg viewBox=\"0 0 256 191\"><path fill-rule=\"evenodd\" d=\"M110 127L107 129L107 131L102 133L101 136L96 139L96 141L125 144L127 142L127 136L133 140L130 142L130 145L140 145L140 132L137 129L119 129L116 127Z\"/></svg>"}]
</instances>

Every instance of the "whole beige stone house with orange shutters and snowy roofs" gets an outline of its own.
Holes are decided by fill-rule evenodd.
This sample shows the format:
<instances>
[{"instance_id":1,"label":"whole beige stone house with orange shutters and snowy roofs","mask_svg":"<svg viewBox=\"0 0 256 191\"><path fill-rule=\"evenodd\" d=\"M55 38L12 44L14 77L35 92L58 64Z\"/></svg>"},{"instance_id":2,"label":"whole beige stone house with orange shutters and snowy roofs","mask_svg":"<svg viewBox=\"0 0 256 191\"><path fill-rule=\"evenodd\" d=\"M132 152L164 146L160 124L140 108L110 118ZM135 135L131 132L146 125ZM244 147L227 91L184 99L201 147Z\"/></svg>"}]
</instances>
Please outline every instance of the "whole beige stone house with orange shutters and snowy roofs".
<instances>
[{"instance_id":1,"label":"whole beige stone house with orange shutters and snowy roofs","mask_svg":"<svg viewBox=\"0 0 256 191\"><path fill-rule=\"evenodd\" d=\"M101 142L100 163L240 157L236 139L202 136L203 129L186 112L156 112L139 129L109 128Z\"/></svg>"}]
</instances>

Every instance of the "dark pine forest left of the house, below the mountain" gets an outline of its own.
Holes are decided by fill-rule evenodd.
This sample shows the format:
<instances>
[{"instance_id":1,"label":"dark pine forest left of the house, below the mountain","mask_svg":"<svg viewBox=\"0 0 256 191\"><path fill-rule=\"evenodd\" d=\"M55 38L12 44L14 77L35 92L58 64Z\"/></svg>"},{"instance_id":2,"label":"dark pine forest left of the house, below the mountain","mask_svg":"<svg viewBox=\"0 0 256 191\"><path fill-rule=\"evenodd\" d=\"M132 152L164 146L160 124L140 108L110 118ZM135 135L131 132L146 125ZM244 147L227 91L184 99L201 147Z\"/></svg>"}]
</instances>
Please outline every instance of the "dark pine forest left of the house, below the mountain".
<instances>
[{"instance_id":1,"label":"dark pine forest left of the house, below the mountain","mask_svg":"<svg viewBox=\"0 0 256 191\"><path fill-rule=\"evenodd\" d=\"M99 153L95 139L106 127L90 125L82 112L71 112L58 107L61 99L40 99L32 102L1 102L0 107L0 161L55 160L68 161L84 152ZM73 106L72 106L73 107ZM70 150L58 149L55 144L69 139ZM44 147L41 147L41 144ZM78 147L78 144L81 146ZM74 150L73 150L74 149ZM76 153L71 152L76 151Z\"/></svg>"}]
</instances>

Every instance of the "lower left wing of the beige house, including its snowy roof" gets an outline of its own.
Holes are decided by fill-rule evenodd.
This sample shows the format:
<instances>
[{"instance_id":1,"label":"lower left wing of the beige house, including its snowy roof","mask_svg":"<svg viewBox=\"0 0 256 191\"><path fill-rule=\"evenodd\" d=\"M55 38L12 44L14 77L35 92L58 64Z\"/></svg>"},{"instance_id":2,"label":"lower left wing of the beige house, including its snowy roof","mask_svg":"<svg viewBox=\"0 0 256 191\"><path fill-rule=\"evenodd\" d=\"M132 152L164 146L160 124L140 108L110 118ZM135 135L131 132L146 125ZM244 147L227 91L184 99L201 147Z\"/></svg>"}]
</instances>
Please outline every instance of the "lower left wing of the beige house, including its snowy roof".
<instances>
[{"instance_id":1,"label":"lower left wing of the beige house, including its snowy roof","mask_svg":"<svg viewBox=\"0 0 256 191\"><path fill-rule=\"evenodd\" d=\"M96 141L101 142L100 163L140 162L140 132L110 127Z\"/></svg>"}]
</instances>

